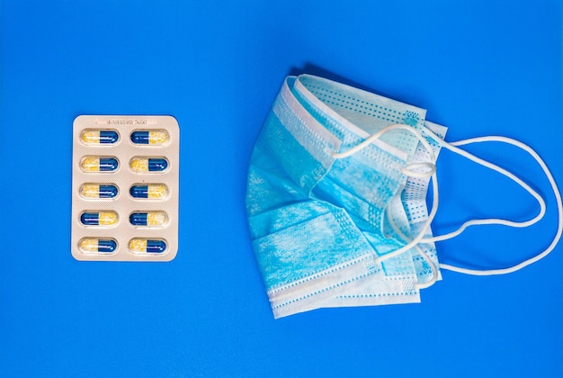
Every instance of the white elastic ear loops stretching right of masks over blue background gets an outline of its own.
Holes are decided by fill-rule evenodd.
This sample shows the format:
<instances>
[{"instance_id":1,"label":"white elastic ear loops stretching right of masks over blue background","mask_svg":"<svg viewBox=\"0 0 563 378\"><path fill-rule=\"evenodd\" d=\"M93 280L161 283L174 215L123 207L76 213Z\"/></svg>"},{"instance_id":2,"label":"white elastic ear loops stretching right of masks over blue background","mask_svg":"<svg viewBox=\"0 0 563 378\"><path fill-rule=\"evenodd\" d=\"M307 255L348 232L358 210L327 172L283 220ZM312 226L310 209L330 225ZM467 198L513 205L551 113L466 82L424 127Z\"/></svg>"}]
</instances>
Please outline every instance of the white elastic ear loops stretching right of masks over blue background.
<instances>
[{"instance_id":1,"label":"white elastic ear loops stretching right of masks over blue background","mask_svg":"<svg viewBox=\"0 0 563 378\"><path fill-rule=\"evenodd\" d=\"M424 130L424 131L431 138L433 138L438 143L440 143L442 145L442 147L448 148L452 152L457 153L462 157L467 157L467 158L469 158L469 160L472 160L472 161L474 161L474 162L476 162L476 163L478 163L482 166L486 166L487 168L490 168L490 169L500 173L501 175L505 175L506 177L513 180L516 184L519 184L520 186L522 186L523 189L526 192L532 194L532 196L540 203L540 212L538 213L538 215L536 215L531 220L525 220L525 221L520 221L520 222L514 221L514 220L502 220L502 219L494 219L494 218L493 219L483 219L483 220L469 220L469 221L466 221L465 223L463 223L460 226L459 229L456 229L455 231L452 231L450 233L444 234L442 236L433 237L433 238L422 238L421 241L423 243L429 242L429 241L441 241L441 240L446 240L448 238L454 238L454 237L460 235L460 233L463 232L464 229L467 229L469 226L475 226L475 225L501 224L501 225L516 227L516 228L529 227L529 226L532 226L532 224L541 220L541 218L543 218L543 216L545 215L545 211L546 211L545 201L543 200L543 198L541 198L540 194L535 192L532 189L532 187L530 187L530 185L524 183L523 180L521 180L520 178L518 178L517 176L515 176L511 172L505 170L504 168L501 168L500 166L496 166L495 164L490 163L487 160L484 160L480 157L476 157L476 156L470 154L469 152L467 152L467 151L465 151L461 148L457 148L456 146L463 146L463 145L471 144L471 143L497 141L497 142L504 142L504 143L513 145L517 148L523 149L524 151L528 152L536 160L536 162L538 162L538 164L541 166L543 173L546 175L546 177L548 178L548 181L550 182L551 189L553 190L553 193L555 195L555 198L556 198L556 201L557 201L557 207L558 207L558 229L557 229L557 232L555 234L555 237L551 241L550 246L547 247L543 252L536 255L535 257L531 257L527 260L524 260L523 262L516 264L515 266L510 266L510 267L501 268L501 269L478 270L478 269L462 268L460 266L451 266L451 265L448 265L448 264L440 264L440 267L442 269L447 269L447 270L451 270L451 271L454 271L454 272L463 273L463 274L466 274L466 275L506 275L506 274L509 274L509 273L513 273L517 270L520 270L525 266L529 266L529 265L535 263L536 261L541 260L541 258L546 257L548 254L550 254L550 252L559 243L559 238L561 238L561 233L563 232L563 204L561 202L561 194L559 193L558 185L555 183L555 179L553 178L553 175L551 175L550 169L548 168L548 166L545 164L545 162L541 159L540 155L538 155L538 153L536 151L534 151L531 147L527 146L526 144L524 144L523 142L521 142L519 140L515 140L515 139L511 139L511 138L507 138L507 137L499 137L499 136L478 137L478 138L463 139L463 140L459 140L459 141L456 141L456 142L448 143L448 142L444 141L443 139L441 139L440 137L438 137L437 135L435 135L432 131L430 131L430 130Z\"/></svg>"}]
</instances>

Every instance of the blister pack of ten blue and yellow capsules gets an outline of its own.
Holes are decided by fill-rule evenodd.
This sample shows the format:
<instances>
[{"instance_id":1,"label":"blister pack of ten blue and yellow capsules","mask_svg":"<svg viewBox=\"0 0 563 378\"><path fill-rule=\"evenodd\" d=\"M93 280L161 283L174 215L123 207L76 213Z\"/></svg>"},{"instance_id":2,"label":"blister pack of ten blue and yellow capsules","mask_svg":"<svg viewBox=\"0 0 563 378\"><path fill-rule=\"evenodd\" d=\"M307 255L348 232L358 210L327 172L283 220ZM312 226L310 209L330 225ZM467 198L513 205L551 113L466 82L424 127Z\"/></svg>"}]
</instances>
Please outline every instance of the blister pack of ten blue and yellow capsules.
<instances>
[{"instance_id":1,"label":"blister pack of ten blue and yellow capsules","mask_svg":"<svg viewBox=\"0 0 563 378\"><path fill-rule=\"evenodd\" d=\"M178 249L180 130L171 116L73 124L72 256L170 261Z\"/></svg>"}]
</instances>

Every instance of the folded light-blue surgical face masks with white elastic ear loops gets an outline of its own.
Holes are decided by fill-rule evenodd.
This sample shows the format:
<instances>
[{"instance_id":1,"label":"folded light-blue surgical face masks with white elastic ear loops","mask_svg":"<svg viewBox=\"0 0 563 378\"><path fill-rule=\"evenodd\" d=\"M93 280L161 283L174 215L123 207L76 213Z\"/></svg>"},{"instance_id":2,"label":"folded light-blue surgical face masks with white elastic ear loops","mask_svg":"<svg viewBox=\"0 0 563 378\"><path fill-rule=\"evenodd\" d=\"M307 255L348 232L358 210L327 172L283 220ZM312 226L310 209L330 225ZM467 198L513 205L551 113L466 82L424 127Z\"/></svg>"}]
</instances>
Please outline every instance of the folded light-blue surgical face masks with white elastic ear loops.
<instances>
[{"instance_id":1,"label":"folded light-blue surgical face masks with white elastic ear loops","mask_svg":"<svg viewBox=\"0 0 563 378\"><path fill-rule=\"evenodd\" d=\"M326 307L420 302L420 290L441 279L440 269L505 274L550 253L563 230L563 208L541 158L503 137L448 143L446 130L406 103L316 76L286 78L256 141L246 193L255 257L275 318ZM557 234L545 251L510 268L440 264L435 241L473 225L527 227L545 213L545 202L528 184L459 147L493 140L523 148L538 161L557 198ZM442 148L511 178L540 203L540 213L523 222L469 220L433 236L435 162Z\"/></svg>"}]
</instances>

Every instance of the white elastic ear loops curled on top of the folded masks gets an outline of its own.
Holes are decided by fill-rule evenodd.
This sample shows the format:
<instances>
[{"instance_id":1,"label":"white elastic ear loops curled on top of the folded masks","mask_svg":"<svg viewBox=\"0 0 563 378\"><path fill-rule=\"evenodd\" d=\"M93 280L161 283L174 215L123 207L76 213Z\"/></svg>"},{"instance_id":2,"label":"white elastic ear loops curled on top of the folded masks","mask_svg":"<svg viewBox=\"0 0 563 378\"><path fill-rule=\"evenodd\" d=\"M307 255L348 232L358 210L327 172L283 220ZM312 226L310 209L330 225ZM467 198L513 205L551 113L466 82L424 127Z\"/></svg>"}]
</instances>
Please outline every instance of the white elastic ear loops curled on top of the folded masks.
<instances>
[{"instance_id":1,"label":"white elastic ear loops curled on top of the folded masks","mask_svg":"<svg viewBox=\"0 0 563 378\"><path fill-rule=\"evenodd\" d=\"M374 140L379 139L381 137L381 135L389 132L390 130L407 130L408 132L413 134L416 137L416 139L418 139L422 143L424 148L426 148L426 150L428 151L428 154L430 155L430 160L431 161L436 160L432 147L430 147L430 144L426 141L426 139L424 139L422 134L420 132L418 132L417 130L413 129L411 126L407 126L405 124L400 124L400 123L387 126L386 128L379 130L375 134L372 134L369 138L363 140L361 143L357 144L353 148L350 148L350 149L348 149L344 152L341 152L341 153L333 153L332 157L334 157L334 158L350 157L353 154L357 153L358 151L362 150L363 148L368 147ZM393 252L389 252L386 255L383 255L381 257L377 257L376 261L379 261L379 262L383 262L385 260L388 260L389 258L398 257L402 253L407 252L407 250L409 250L413 247L418 247L418 243L424 238L424 234L426 233L426 230L430 228L430 223L432 222L434 216L436 215L436 211L438 210L439 194L438 194L438 179L436 177L435 165L433 163L414 163L414 164L411 164L409 166L414 167L414 168L420 167L420 166L432 166L432 169L430 171L424 172L424 173L409 170L409 169L407 169L407 167L401 169L401 172L403 172L405 175L416 175L418 177L428 177L428 176L430 176L432 178L432 183L433 183L433 185L432 185L432 187L433 187L432 209L431 209L430 213L428 214L428 219L424 222L424 226L423 226L422 230L416 236L416 238L413 238L409 243L407 243L407 245L400 247L400 248L394 250ZM388 211L388 213L389 213L389 211ZM393 221L391 221L390 223L391 223L391 226L395 229L395 231L396 232L398 231L398 235L401 238L404 237L407 240L407 237L402 232L400 232L400 230L398 230L395 223ZM430 286L434 282L436 282L436 280L438 279L438 272L437 272L436 266L433 264L433 261L424 254L422 249L419 247L419 249L417 249L417 250L419 252L421 252L421 255L423 256L424 261L426 261L431 266L432 271L433 271L433 278L430 282L428 282L426 284L417 285L417 287L419 287L419 288L424 288L424 287Z\"/></svg>"}]
</instances>

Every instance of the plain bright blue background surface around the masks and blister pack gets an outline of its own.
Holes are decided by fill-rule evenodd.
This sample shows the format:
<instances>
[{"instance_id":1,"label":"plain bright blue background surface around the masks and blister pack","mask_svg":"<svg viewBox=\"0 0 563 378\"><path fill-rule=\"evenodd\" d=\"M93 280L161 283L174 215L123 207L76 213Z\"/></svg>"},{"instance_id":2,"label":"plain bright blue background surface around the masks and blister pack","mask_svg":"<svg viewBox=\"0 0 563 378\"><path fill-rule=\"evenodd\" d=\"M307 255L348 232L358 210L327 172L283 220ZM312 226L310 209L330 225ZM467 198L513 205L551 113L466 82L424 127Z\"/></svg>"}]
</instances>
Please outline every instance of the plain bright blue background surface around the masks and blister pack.
<instances>
[{"instance_id":1,"label":"plain bright blue background surface around the masks and blister pack","mask_svg":"<svg viewBox=\"0 0 563 378\"><path fill-rule=\"evenodd\" d=\"M563 183L559 1L4 0L1 15L0 374L4 376L563 376L563 244L513 275L443 273L421 304L273 320L246 226L246 167L290 73L428 109L447 139L521 139ZM72 121L180 123L180 249L171 263L71 257ZM469 148L548 200L531 229L482 227L443 262L510 266L550 243L532 158ZM436 233L524 220L515 184L443 153Z\"/></svg>"}]
</instances>

